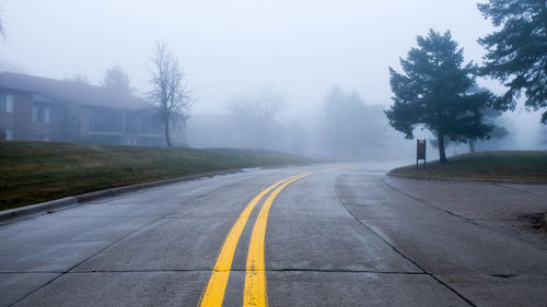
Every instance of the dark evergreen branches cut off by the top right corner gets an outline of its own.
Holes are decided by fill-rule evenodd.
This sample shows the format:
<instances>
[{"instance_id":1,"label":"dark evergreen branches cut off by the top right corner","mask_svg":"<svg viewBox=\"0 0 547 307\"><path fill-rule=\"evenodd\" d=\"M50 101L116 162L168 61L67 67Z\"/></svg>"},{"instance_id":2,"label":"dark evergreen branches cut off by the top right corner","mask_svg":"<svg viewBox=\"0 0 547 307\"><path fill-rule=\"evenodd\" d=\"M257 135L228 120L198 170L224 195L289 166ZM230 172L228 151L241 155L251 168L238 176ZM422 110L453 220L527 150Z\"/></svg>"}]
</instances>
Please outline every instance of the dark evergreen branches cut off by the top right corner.
<instances>
[{"instance_id":1,"label":"dark evergreen branches cut off by the top right corner","mask_svg":"<svg viewBox=\"0 0 547 307\"><path fill-rule=\"evenodd\" d=\"M547 107L547 2L490 0L478 9L501 27L478 40L488 50L480 73L509 86L494 106L514 110L514 98L524 91L527 109ZM547 123L547 111L542 122Z\"/></svg>"}]
</instances>

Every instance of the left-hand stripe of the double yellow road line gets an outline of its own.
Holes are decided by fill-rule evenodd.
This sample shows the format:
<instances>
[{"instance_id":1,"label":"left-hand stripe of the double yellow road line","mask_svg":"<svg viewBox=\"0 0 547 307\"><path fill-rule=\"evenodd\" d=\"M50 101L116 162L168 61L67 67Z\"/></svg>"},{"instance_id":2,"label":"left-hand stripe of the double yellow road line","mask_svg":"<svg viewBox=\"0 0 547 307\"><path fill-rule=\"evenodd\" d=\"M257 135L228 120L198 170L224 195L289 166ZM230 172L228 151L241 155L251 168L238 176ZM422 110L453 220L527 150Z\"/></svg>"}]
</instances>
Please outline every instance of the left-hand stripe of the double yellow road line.
<instances>
[{"instance_id":1,"label":"left-hand stripe of the double yellow road line","mask_svg":"<svg viewBox=\"0 0 547 307\"><path fill-rule=\"evenodd\" d=\"M280 184L291 180L298 176L292 176L287 179L280 180L260 193L258 193L243 210L240 217L232 226L232 229L228 234L226 239L224 240L224 245L220 250L219 257L217 258L217 262L214 264L214 269L212 271L211 278L209 279L209 283L207 284L207 288L203 292L201 297L201 303L199 306L222 306L222 302L224 300L224 292L226 290L228 279L230 278L230 270L232 269L232 261L235 253L235 248L237 246L237 241L240 240L240 236L245 228L245 224L247 223L248 216L253 212L253 209L260 201L260 199L267 194L271 189L276 188Z\"/></svg>"}]
</instances>

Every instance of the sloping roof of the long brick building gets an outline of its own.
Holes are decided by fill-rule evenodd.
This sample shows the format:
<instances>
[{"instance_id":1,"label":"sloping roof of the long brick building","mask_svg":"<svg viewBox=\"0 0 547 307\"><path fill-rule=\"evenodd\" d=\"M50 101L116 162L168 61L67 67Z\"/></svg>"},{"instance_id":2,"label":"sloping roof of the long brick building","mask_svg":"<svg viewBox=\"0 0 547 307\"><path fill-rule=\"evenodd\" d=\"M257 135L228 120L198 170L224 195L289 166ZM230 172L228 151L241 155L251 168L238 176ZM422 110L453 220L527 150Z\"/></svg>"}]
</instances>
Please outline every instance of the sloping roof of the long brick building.
<instances>
[{"instance_id":1,"label":"sloping roof of the long brick building","mask_svg":"<svg viewBox=\"0 0 547 307\"><path fill-rule=\"evenodd\" d=\"M39 93L53 99L83 106L142 109L138 97L81 82L63 81L13 72L0 72L0 88Z\"/></svg>"}]
</instances>

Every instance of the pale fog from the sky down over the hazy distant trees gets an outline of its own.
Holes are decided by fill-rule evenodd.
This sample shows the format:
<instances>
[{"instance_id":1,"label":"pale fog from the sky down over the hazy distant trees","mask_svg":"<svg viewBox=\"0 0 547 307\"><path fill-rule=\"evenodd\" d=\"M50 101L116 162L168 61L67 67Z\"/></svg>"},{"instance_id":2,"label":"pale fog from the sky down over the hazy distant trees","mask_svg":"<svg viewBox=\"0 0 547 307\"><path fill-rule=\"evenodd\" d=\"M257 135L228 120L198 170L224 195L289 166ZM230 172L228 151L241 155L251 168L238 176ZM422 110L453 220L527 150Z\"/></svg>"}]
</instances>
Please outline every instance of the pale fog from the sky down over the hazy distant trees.
<instances>
[{"instance_id":1,"label":"pale fog from the sky down over the hazy distant trees","mask_svg":"<svg viewBox=\"0 0 547 307\"><path fill-rule=\"evenodd\" d=\"M393 96L387 68L400 70L399 57L429 28L450 29L466 60L480 63L485 49L477 38L493 31L476 0L0 3L7 33L0 43L0 70L54 79L82 75L98 85L106 69L120 66L136 94L143 95L150 87L152 47L164 39L196 98L183 131L189 146L263 147L340 158L412 161L416 141L404 140L382 113ZM496 93L503 91L497 81L477 81ZM277 105L270 114L242 110L272 97ZM334 101L357 105L362 122L350 119L356 113L329 119ZM237 110L237 105L245 107ZM539 117L522 107L503 114L497 120L509 137L479 150L547 149ZM356 122L350 128L335 123L350 121ZM333 137L338 128L346 129L342 134L354 147ZM433 138L427 131L416 137ZM447 154L467 151L465 144L451 144ZM434 152L430 156L438 157Z\"/></svg>"}]
</instances>

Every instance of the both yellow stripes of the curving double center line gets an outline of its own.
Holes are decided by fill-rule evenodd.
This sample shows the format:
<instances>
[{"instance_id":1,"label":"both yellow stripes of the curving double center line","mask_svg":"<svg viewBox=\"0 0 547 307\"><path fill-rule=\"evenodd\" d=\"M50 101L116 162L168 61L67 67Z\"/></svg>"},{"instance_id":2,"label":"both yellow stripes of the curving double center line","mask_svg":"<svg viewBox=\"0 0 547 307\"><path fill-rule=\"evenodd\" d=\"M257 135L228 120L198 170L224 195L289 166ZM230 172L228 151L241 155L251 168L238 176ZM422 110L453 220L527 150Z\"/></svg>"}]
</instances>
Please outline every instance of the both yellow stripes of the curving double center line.
<instances>
[{"instance_id":1,"label":"both yellow stripes of the curving double center line","mask_svg":"<svg viewBox=\"0 0 547 307\"><path fill-rule=\"evenodd\" d=\"M207 288L201 297L200 306L222 306L224 300L224 293L226 290L228 280L230 278L230 270L232 269L232 262L235 253L235 248L237 247L237 241L240 240L241 234L245 228L253 209L256 204L272 189L277 189L269 194L269 197L264 202L264 205L258 213L255 222L255 227L251 235L251 243L248 246L247 264L245 273L245 290L243 293L243 306L267 306L266 297L266 272L264 264L264 241L266 237L266 225L268 222L268 213L274 203L276 197L289 186L291 182L311 175L310 173L300 174L296 176L289 177L287 179L280 180L261 192L259 192L243 210L240 217L232 226L232 229L228 234L228 237L220 250L220 255L217 258L217 263L212 271Z\"/></svg>"}]
</instances>

